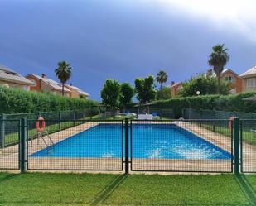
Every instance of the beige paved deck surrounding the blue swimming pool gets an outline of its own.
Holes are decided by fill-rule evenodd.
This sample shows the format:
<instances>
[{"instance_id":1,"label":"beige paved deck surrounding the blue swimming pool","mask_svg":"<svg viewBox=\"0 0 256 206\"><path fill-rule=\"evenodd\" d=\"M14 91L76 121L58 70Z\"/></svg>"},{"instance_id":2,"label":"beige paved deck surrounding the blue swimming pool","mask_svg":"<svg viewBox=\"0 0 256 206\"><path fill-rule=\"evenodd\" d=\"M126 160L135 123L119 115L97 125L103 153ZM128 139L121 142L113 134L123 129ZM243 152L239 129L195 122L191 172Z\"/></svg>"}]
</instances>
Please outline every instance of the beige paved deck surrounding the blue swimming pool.
<instances>
[{"instance_id":1,"label":"beige paved deck surrounding the blue swimming pool","mask_svg":"<svg viewBox=\"0 0 256 206\"><path fill-rule=\"evenodd\" d=\"M101 122L101 123L114 123L114 122ZM143 122L144 123L144 122ZM148 122L147 123L152 123ZM155 122L154 122L155 123ZM170 123L170 122L167 122ZM176 124L178 127L184 128L189 132L192 132L199 136L205 141L209 141L215 146L219 146L225 151L231 152L232 142L230 137L226 137L220 133L212 132L200 125L192 122L171 122ZM91 127L95 127L99 122L85 122L75 127L70 127L60 132L55 132L49 135L54 144L63 141L69 137L74 136L77 133L83 132ZM38 139L27 141L28 148L28 169L29 170L81 170L81 171L94 171L98 170L104 172L111 172L110 170L117 171L119 173L122 170L122 159L121 158L77 158L77 157L32 157L36 151L41 151L47 146L51 146L51 140L48 137L44 137L45 142L40 137ZM47 145L47 146L46 146ZM8 146L4 149L0 149L0 168L11 170L18 168L18 145ZM256 146L251 146L247 143L243 145L243 158L244 158L244 170L256 171ZM130 160L131 161L131 160ZM130 163L132 166L132 173L145 172L150 173L151 171L178 171L178 172L230 172L231 171L231 160L203 160L203 159L183 159L183 160L169 160L169 159L142 159L136 158Z\"/></svg>"}]
</instances>

